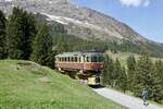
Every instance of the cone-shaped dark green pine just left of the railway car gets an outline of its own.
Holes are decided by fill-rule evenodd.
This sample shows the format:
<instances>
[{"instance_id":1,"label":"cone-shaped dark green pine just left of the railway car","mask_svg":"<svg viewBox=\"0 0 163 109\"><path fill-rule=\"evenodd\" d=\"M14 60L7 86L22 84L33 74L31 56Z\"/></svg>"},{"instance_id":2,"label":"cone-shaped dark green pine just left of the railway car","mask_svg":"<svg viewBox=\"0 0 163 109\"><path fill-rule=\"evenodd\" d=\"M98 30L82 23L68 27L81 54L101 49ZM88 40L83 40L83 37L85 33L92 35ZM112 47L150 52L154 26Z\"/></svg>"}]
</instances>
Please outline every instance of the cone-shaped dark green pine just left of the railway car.
<instances>
[{"instance_id":1,"label":"cone-shaped dark green pine just left of the railway car","mask_svg":"<svg viewBox=\"0 0 163 109\"><path fill-rule=\"evenodd\" d=\"M47 24L41 24L33 45L32 60L42 65L52 64L52 37Z\"/></svg>"}]
</instances>

